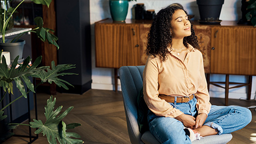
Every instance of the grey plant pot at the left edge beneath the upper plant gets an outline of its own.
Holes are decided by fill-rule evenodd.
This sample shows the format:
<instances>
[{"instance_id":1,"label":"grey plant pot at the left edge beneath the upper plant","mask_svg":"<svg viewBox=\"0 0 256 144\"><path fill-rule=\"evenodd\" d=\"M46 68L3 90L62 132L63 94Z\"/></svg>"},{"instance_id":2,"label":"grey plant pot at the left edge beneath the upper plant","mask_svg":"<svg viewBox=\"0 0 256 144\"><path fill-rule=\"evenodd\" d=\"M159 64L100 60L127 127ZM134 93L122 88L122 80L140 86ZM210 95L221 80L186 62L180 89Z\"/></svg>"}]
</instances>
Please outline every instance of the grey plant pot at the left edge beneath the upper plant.
<instances>
[{"instance_id":1,"label":"grey plant pot at the left edge beneath the upper plant","mask_svg":"<svg viewBox=\"0 0 256 144\"><path fill-rule=\"evenodd\" d=\"M11 63L18 55L19 55L18 62L22 62L23 49L24 49L24 45L26 44L26 41L23 39L18 39L17 42L10 43L11 40L12 39L5 39L5 43L2 43L2 42L0 43L0 48L1 50L10 52Z\"/></svg>"}]
</instances>

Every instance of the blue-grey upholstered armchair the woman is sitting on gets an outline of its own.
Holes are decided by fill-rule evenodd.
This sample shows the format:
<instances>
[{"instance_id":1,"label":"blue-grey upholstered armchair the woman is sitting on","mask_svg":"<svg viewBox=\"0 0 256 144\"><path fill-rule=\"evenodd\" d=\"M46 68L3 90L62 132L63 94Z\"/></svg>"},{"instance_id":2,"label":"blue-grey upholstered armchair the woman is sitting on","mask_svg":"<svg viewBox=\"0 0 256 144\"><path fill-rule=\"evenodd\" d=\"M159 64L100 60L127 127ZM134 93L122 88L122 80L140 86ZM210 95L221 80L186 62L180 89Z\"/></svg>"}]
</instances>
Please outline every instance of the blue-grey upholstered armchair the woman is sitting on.
<instances>
[{"instance_id":1,"label":"blue-grey upholstered armchair the woman is sitting on","mask_svg":"<svg viewBox=\"0 0 256 144\"><path fill-rule=\"evenodd\" d=\"M137 123L137 96L142 88L142 73L144 67L145 66L124 66L119 69L127 129L130 141L133 144L158 144L159 142L149 131L141 134ZM211 135L201 140L195 140L192 143L227 143L231 139L231 134Z\"/></svg>"}]
</instances>

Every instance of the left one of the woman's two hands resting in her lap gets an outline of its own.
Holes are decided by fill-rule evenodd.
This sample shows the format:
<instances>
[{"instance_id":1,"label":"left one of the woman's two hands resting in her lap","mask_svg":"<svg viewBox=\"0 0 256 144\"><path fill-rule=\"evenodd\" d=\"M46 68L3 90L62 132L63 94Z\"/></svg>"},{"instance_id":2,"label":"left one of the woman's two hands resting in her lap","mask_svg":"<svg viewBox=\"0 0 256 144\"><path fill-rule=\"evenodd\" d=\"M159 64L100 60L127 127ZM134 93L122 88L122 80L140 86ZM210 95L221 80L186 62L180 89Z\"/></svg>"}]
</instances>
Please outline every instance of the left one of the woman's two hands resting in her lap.
<instances>
[{"instance_id":1,"label":"left one of the woman's two hands resting in her lap","mask_svg":"<svg viewBox=\"0 0 256 144\"><path fill-rule=\"evenodd\" d=\"M186 115L186 114L181 114L181 115L175 117L175 119L182 122L183 125L188 128L193 128L196 124L196 121L195 121L196 118L194 116L190 116L190 115Z\"/></svg>"}]
</instances>

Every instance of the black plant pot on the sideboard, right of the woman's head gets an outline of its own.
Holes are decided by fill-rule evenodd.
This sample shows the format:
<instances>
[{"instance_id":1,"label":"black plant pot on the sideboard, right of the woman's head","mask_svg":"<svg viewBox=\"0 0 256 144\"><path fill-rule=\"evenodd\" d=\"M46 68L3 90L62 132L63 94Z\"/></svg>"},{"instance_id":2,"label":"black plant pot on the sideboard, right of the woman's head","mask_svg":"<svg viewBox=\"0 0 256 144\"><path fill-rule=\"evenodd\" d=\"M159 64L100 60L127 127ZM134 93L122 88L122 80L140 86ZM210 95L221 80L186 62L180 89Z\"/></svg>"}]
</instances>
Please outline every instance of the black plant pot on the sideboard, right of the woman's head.
<instances>
[{"instance_id":1,"label":"black plant pot on the sideboard, right of the woman's head","mask_svg":"<svg viewBox=\"0 0 256 144\"><path fill-rule=\"evenodd\" d=\"M219 22L220 12L224 0L196 0L200 21Z\"/></svg>"}]
</instances>

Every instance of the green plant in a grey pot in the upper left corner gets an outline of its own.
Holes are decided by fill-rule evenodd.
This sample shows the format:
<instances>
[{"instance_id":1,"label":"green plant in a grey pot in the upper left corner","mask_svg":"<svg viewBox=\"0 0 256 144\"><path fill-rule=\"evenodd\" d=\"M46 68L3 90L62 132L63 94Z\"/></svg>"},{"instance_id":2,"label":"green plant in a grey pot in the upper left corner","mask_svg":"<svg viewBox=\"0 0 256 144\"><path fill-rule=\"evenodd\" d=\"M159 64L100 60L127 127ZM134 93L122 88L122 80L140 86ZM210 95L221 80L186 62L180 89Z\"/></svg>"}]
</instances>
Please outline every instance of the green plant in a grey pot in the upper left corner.
<instances>
[{"instance_id":1,"label":"green plant in a grey pot in the upper left corner","mask_svg":"<svg viewBox=\"0 0 256 144\"><path fill-rule=\"evenodd\" d=\"M7 2L5 1L5 7L7 7ZM36 28L32 30L25 31L17 37L14 37L13 39L5 39L5 33L6 33L6 28L9 26L10 20L12 19L12 15L17 10L17 8L24 2L25 0L22 0L15 8L10 7L9 9L1 9L0 13L3 14L3 17L0 17L0 32L2 33L2 41L0 42L0 48L3 49L4 51L9 51L11 54L11 61L19 55L19 58L22 59L22 53L23 53L23 46L25 45L25 41L20 39L20 37L23 34L26 34L28 32L31 33L36 33L37 36L43 41L47 41L49 44L53 44L58 47L59 45L56 43L58 40L58 37L55 35L51 34L50 31L54 32L54 30L49 29L49 28L44 28L43 27L43 19L41 17L36 17L35 18L35 23L36 23ZM36 4L43 4L49 5L51 4L52 0L30 0ZM13 51L12 51L13 50ZM17 53L20 52L20 53Z\"/></svg>"}]
</instances>

